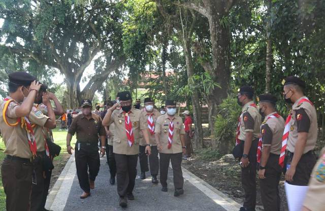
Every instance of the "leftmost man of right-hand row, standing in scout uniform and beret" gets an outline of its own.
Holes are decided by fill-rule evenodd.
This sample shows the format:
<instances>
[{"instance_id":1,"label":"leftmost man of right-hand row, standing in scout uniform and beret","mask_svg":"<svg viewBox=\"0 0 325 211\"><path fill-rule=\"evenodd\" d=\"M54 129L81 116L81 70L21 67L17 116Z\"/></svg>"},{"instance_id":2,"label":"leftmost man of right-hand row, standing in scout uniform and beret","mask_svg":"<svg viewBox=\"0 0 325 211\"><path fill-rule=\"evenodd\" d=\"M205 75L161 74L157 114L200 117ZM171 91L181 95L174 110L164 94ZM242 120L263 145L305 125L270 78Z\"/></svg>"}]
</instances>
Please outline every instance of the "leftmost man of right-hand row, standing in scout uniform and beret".
<instances>
[{"instance_id":1,"label":"leftmost man of right-hand row, standing in scout uniform and beret","mask_svg":"<svg viewBox=\"0 0 325 211\"><path fill-rule=\"evenodd\" d=\"M245 200L240 211L253 211L256 205L256 151L261 115L253 102L253 95L252 87L242 86L237 98L238 104L243 107L236 138L236 143L240 145L243 152L241 178Z\"/></svg>"}]
</instances>

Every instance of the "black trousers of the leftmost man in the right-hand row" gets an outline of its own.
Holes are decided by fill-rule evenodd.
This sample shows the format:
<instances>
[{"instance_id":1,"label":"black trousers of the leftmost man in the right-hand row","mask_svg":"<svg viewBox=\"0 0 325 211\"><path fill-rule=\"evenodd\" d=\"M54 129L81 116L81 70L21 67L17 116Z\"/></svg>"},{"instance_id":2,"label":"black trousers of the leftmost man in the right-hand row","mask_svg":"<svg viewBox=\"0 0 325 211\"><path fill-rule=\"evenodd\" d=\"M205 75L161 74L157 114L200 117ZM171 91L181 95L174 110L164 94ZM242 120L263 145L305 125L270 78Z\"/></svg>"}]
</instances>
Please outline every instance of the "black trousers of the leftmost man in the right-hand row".
<instances>
[{"instance_id":1,"label":"black trousers of the leftmost man in the right-hand row","mask_svg":"<svg viewBox=\"0 0 325 211\"><path fill-rule=\"evenodd\" d=\"M252 145L248 153L249 165L242 168L241 178L242 187L244 189L244 207L255 209L256 205L256 152L258 139L252 140ZM244 147L244 145L243 145Z\"/></svg>"}]
</instances>

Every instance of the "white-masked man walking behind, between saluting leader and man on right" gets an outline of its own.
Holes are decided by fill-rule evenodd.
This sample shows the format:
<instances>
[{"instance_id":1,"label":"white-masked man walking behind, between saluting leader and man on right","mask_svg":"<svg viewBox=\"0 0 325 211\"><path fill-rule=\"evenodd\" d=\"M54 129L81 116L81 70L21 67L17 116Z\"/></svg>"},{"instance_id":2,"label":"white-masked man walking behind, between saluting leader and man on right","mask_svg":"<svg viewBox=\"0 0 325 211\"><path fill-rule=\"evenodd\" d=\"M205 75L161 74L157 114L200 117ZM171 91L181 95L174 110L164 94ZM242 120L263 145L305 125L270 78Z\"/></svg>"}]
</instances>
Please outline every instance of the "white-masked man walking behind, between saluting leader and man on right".
<instances>
[{"instance_id":1,"label":"white-masked man walking behind, between saluting leader and man on right","mask_svg":"<svg viewBox=\"0 0 325 211\"><path fill-rule=\"evenodd\" d=\"M150 138L150 146L151 146L151 155L149 155L149 164L150 164L150 173L152 175L151 182L153 184L158 184L157 174L159 171L159 158L158 158L158 150L157 144L154 137L154 128L157 121L157 118L161 115L156 109L154 109L154 100L151 97L147 97L144 99L145 109L141 113L141 118L146 122L149 138ZM146 179L146 171L148 171L148 156L145 153L146 142L143 138L142 134L140 134L140 167L141 167L141 179Z\"/></svg>"}]
</instances>

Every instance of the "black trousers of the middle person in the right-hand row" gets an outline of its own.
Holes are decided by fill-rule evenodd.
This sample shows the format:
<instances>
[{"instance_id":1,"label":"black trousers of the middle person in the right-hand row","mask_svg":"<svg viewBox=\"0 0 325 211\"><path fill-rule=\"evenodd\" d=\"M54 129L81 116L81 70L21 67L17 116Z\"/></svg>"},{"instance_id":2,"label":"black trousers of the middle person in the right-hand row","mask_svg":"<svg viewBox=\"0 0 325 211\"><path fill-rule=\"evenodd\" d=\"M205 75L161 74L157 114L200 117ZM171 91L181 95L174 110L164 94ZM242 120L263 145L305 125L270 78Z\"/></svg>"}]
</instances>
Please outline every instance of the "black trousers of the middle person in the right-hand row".
<instances>
[{"instance_id":1,"label":"black trousers of the middle person in the right-hand row","mask_svg":"<svg viewBox=\"0 0 325 211\"><path fill-rule=\"evenodd\" d=\"M280 211L279 183L281 166L279 155L270 154L265 169L265 179L259 179L261 198L265 211Z\"/></svg>"}]
</instances>

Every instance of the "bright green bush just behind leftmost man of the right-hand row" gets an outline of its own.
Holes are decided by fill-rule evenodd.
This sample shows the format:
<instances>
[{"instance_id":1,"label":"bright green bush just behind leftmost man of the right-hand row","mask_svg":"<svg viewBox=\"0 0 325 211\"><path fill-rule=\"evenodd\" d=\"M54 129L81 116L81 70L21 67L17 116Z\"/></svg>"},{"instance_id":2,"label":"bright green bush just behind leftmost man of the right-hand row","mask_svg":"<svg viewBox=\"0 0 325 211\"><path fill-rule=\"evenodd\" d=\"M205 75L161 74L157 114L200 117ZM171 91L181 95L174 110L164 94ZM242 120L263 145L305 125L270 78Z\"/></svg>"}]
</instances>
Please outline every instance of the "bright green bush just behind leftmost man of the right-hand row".
<instances>
[{"instance_id":1,"label":"bright green bush just behind leftmost man of the right-hand row","mask_svg":"<svg viewBox=\"0 0 325 211\"><path fill-rule=\"evenodd\" d=\"M235 131L240 113L241 107L238 105L235 95L228 96L219 105L214 130L217 143L227 148L223 149L224 151L231 152L235 145Z\"/></svg>"}]
</instances>

